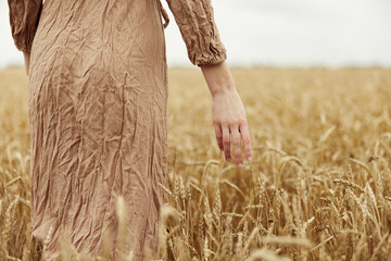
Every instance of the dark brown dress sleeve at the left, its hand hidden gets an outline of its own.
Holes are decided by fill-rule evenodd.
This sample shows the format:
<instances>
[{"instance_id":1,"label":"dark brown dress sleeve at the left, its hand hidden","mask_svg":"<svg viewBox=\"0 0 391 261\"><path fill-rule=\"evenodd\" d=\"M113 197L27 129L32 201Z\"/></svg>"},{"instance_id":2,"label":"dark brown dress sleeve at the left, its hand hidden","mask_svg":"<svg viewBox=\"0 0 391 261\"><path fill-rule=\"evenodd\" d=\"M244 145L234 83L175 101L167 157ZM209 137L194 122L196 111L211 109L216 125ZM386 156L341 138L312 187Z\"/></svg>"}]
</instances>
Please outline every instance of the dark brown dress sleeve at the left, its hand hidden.
<instances>
[{"instance_id":1,"label":"dark brown dress sleeve at the left, its hand hidden","mask_svg":"<svg viewBox=\"0 0 391 261\"><path fill-rule=\"evenodd\" d=\"M29 52L37 30L42 0L8 0L11 34L20 51Z\"/></svg>"}]
</instances>

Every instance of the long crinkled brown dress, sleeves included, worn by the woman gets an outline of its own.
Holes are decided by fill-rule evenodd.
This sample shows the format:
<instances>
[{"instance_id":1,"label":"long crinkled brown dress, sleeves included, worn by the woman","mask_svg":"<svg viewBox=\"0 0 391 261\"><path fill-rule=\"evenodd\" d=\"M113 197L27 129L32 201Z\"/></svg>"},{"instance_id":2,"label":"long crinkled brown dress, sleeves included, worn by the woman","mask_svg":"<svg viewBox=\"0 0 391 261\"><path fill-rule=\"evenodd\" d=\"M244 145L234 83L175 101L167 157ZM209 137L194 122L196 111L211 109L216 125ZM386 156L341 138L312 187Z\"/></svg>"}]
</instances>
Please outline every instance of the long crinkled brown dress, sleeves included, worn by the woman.
<instances>
[{"instance_id":1,"label":"long crinkled brown dress, sleeves included, worn by the woman","mask_svg":"<svg viewBox=\"0 0 391 261\"><path fill-rule=\"evenodd\" d=\"M14 44L30 52L33 236L49 239L43 257L50 261L58 260L62 229L77 251L94 258L109 235L117 260L116 200L123 196L124 249L141 260L144 246L157 250L164 202L165 10L160 0L8 3ZM226 60L211 0L167 3L194 65Z\"/></svg>"}]
</instances>

